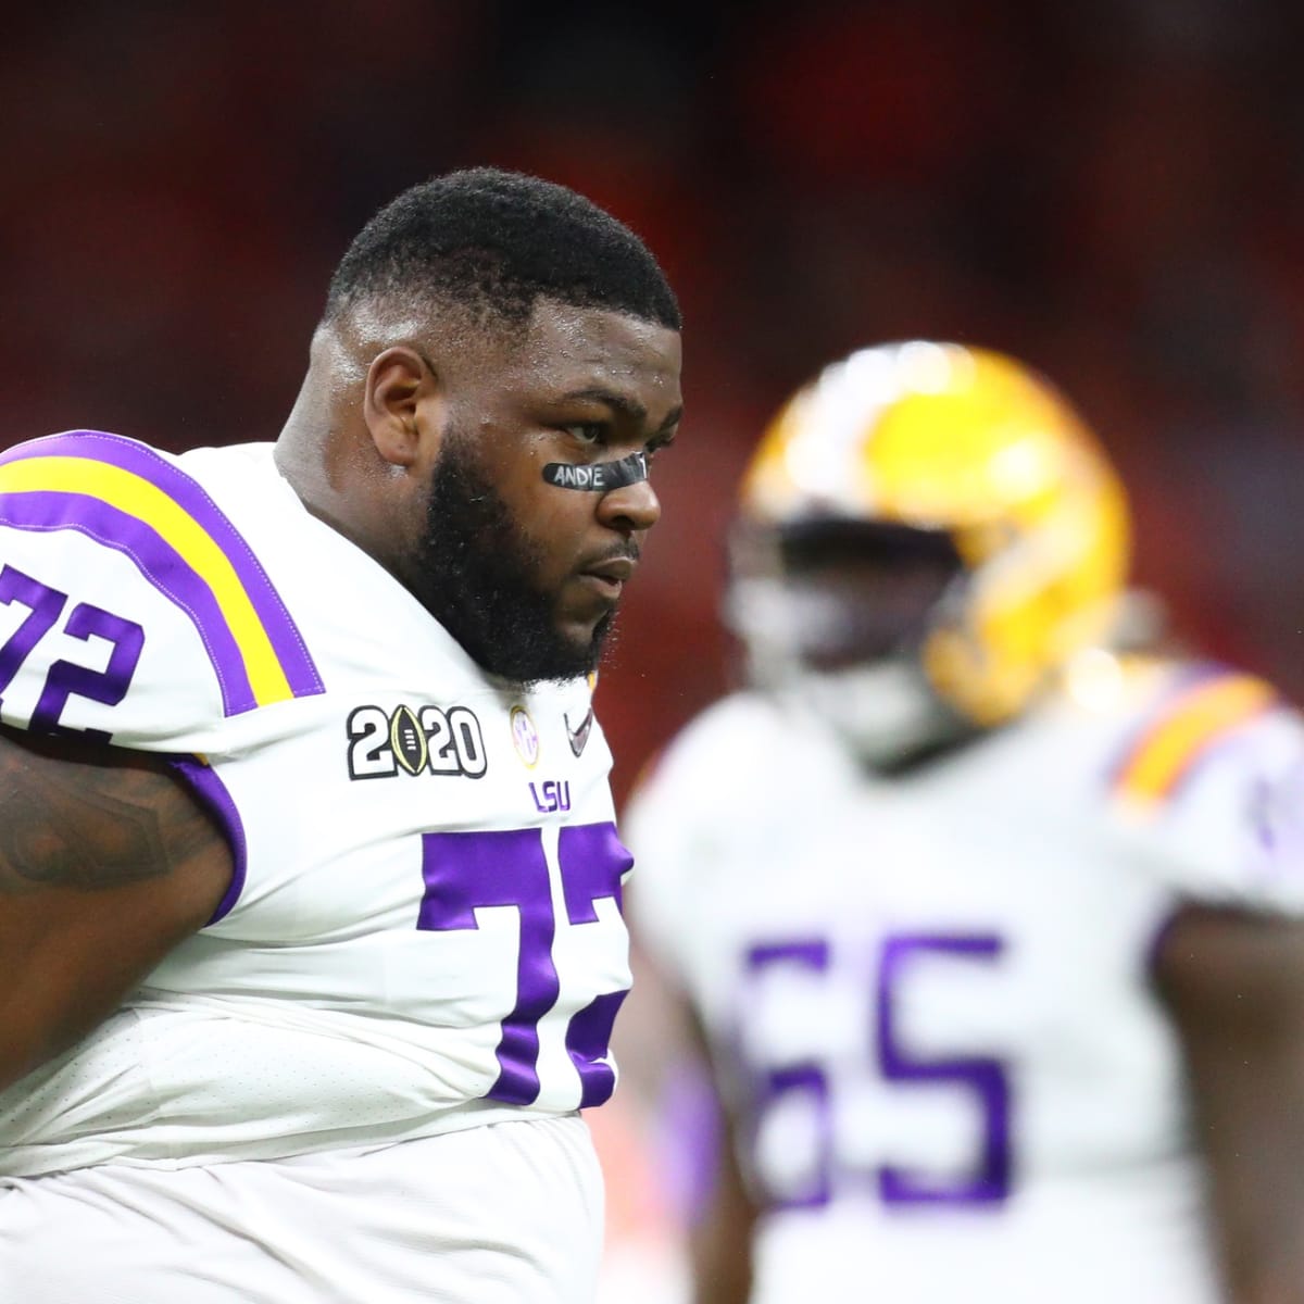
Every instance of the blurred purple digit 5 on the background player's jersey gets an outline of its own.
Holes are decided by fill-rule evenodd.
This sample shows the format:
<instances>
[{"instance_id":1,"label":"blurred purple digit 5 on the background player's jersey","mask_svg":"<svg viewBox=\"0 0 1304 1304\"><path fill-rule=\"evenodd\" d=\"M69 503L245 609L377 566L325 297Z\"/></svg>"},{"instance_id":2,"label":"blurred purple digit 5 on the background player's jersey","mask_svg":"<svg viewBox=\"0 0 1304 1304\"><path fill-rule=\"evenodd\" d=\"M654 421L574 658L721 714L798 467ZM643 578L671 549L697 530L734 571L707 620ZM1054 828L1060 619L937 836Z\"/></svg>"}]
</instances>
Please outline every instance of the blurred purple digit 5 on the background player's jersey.
<instances>
[{"instance_id":1,"label":"blurred purple digit 5 on the background player's jersey","mask_svg":"<svg viewBox=\"0 0 1304 1304\"><path fill-rule=\"evenodd\" d=\"M1005 1067L986 1056L921 1060L901 1048L893 996L908 964L919 956L948 955L995 961L1004 943L992 934L896 934L885 939L879 957L876 1013L878 1056L883 1076L906 1086L958 1084L978 1098L983 1114L979 1162L971 1179L932 1184L902 1168L879 1170L879 1194L888 1205L994 1205L1007 1200L1011 1155L1012 1093Z\"/></svg>"}]
</instances>

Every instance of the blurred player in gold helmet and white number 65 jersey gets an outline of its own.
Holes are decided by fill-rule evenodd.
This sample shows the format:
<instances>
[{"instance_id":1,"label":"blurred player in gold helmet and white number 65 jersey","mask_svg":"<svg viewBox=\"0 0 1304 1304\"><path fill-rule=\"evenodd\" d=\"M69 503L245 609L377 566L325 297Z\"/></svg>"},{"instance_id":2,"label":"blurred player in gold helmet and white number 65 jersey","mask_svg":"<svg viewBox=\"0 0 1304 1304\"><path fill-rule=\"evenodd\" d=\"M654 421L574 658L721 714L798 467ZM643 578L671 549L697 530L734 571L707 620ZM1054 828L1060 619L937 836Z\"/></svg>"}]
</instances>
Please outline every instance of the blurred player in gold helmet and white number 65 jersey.
<instances>
[{"instance_id":1,"label":"blurred player in gold helmet and white number 65 jersey","mask_svg":"<svg viewBox=\"0 0 1304 1304\"><path fill-rule=\"evenodd\" d=\"M747 687L625 825L728 1119L700 1301L1304 1299L1304 729L1142 651L1128 536L1005 356L863 349L769 426Z\"/></svg>"}]
</instances>

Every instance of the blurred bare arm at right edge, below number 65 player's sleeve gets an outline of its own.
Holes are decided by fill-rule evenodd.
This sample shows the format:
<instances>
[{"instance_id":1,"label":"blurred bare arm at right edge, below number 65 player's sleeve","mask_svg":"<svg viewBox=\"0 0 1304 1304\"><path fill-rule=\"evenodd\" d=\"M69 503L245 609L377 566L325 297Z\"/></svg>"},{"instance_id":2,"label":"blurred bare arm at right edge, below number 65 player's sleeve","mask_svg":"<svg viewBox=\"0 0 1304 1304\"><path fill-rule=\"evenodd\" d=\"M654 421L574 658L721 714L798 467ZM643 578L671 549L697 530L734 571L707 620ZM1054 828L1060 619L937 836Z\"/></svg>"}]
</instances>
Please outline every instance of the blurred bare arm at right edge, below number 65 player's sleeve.
<instances>
[{"instance_id":1,"label":"blurred bare arm at right edge, below number 65 player's sleeve","mask_svg":"<svg viewBox=\"0 0 1304 1304\"><path fill-rule=\"evenodd\" d=\"M1157 957L1235 1304L1304 1301L1304 923L1191 908Z\"/></svg>"}]
</instances>

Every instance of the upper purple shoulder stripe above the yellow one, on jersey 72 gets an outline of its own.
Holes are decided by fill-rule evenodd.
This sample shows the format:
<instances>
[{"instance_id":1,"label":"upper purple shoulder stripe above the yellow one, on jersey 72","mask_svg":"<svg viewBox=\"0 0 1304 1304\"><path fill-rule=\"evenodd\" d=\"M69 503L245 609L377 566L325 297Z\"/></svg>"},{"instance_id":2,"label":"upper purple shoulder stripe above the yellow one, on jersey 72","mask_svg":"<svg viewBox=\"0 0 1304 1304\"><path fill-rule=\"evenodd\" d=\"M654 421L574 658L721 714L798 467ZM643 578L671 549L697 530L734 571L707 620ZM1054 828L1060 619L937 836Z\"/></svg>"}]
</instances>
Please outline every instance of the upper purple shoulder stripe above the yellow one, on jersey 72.
<instances>
[{"instance_id":1,"label":"upper purple shoulder stripe above the yellow one, on jersey 72","mask_svg":"<svg viewBox=\"0 0 1304 1304\"><path fill-rule=\"evenodd\" d=\"M104 462L147 480L166 493L222 549L249 595L267 632L286 681L296 698L322 692L323 685L297 626L254 557L244 536L223 515L205 489L160 452L120 434L100 430L69 430L33 439L0 454L0 466L25 458L85 458Z\"/></svg>"}]
</instances>

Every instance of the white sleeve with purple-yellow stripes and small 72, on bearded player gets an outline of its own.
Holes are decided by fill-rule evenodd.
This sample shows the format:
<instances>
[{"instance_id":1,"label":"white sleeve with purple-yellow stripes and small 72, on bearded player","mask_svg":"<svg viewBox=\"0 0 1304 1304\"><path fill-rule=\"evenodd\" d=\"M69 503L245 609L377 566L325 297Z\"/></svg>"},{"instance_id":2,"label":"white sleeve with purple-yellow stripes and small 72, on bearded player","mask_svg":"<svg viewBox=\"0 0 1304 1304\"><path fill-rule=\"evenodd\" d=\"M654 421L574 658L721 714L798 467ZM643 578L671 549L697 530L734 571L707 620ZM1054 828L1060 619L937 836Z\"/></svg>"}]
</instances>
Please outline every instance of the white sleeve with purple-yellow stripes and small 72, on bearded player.
<instances>
[{"instance_id":1,"label":"white sleeve with purple-yellow stripes and small 72, on bearded player","mask_svg":"<svg viewBox=\"0 0 1304 1304\"><path fill-rule=\"evenodd\" d=\"M177 459L72 432L0 455L0 720L160 752L321 691L257 557Z\"/></svg>"}]
</instances>

